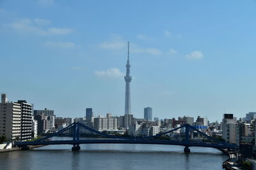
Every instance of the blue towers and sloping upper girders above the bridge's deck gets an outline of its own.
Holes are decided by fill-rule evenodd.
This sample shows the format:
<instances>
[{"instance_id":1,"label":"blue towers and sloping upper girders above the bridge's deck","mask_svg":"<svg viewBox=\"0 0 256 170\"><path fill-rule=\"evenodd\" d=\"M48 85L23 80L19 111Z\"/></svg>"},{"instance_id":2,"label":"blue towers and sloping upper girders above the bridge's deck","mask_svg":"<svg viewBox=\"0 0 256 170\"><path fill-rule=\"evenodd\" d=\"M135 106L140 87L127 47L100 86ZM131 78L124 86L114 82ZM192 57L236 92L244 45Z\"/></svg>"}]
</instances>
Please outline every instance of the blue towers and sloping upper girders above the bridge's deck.
<instances>
[{"instance_id":1,"label":"blue towers and sloping upper girders above the bridge's deck","mask_svg":"<svg viewBox=\"0 0 256 170\"><path fill-rule=\"evenodd\" d=\"M92 138L82 138L81 139L81 129L85 129L86 131L91 132L93 134ZM172 138L173 134L175 134L175 132L177 132L177 131L180 131L180 134L179 135L176 134L177 138ZM133 143L133 142L134 143L147 143L147 141L148 141L148 143L154 143L152 141L156 141L155 143L170 143L170 145L180 144L180 145L184 145L184 146L198 145L198 146L212 146L212 147L227 146L229 148L235 147L235 145L230 145L229 143L225 143L216 138L212 138L211 136L208 136L204 132L199 131L198 129L196 129L195 127L193 127L189 124L182 125L180 127L177 127L175 129L172 129L167 132L156 134L155 136L125 137L125 136L115 136L113 134L106 134L104 132L99 132L99 131L93 129L92 127L88 127L79 122L74 122L73 124L68 125L64 129L61 129L60 131L55 132L54 134L49 134L49 136L46 136L45 138L37 139L32 142L16 142L15 145L37 145L39 143L41 143L41 144L42 143L45 143L45 144L61 143L61 141L54 142L54 141L47 141L47 140L51 139L54 136L58 136L58 135L61 136L65 132L70 132L72 134L72 136L70 136L70 137L72 137L72 139L70 139L69 141L67 141L67 139L65 139L65 142L63 141L63 143L81 143L81 141L83 141L84 143L86 141L88 143L92 143L93 140L94 141L97 140L99 142L104 141L105 143L106 143L106 141L111 141L111 142L116 141L116 143L118 141L120 141L120 143L125 143L125 142L127 142L127 143ZM191 136L193 136L193 132L197 132L207 142L204 143L203 141L193 141L193 138L191 138ZM172 139L174 139L174 141L172 141Z\"/></svg>"}]
</instances>

